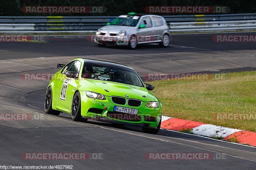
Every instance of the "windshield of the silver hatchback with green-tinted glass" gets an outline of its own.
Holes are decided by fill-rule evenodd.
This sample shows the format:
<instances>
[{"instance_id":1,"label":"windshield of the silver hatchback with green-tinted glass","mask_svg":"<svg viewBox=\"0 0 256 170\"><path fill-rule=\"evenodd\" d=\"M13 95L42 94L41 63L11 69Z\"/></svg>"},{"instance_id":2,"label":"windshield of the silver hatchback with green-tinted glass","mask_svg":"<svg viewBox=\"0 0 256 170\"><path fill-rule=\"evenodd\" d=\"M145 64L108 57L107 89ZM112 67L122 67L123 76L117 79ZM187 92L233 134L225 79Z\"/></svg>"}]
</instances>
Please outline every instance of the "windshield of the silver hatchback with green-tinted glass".
<instances>
[{"instance_id":1,"label":"windshield of the silver hatchback with green-tinted glass","mask_svg":"<svg viewBox=\"0 0 256 170\"><path fill-rule=\"evenodd\" d=\"M139 18L138 16L120 15L110 25L136 26Z\"/></svg>"}]
</instances>

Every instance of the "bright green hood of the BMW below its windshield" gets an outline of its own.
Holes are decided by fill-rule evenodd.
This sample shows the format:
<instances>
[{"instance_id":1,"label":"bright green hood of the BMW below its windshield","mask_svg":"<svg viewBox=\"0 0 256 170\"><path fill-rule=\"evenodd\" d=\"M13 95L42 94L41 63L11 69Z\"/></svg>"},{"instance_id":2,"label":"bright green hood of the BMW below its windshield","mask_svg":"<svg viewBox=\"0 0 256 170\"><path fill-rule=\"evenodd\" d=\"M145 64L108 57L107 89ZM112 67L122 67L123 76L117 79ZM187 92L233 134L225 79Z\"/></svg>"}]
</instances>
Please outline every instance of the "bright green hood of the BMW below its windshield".
<instances>
[{"instance_id":1,"label":"bright green hood of the BMW below its windshield","mask_svg":"<svg viewBox=\"0 0 256 170\"><path fill-rule=\"evenodd\" d=\"M93 80L93 79L82 79L81 82L91 87L94 90L94 92L103 94L105 96L126 97L125 95L128 95L129 97L126 97L126 98L139 99L139 100L142 100L143 102L157 100L152 93L150 93L146 88L143 88L143 87L111 82L111 81ZM82 87L82 90L86 91L86 89L83 89L83 87ZM107 92L106 90L109 92ZM142 96L146 96L146 97L142 97Z\"/></svg>"}]
</instances>

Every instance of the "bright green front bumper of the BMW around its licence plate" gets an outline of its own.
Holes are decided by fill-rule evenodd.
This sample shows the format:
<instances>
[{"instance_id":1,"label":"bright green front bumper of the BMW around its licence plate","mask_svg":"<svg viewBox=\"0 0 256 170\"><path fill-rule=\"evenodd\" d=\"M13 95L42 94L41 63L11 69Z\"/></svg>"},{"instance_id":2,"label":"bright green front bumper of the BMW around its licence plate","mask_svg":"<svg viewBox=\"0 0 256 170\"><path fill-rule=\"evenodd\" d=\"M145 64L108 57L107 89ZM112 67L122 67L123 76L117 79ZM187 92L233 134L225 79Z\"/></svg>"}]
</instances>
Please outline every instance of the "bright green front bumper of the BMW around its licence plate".
<instances>
[{"instance_id":1,"label":"bright green front bumper of the BMW around its licence plate","mask_svg":"<svg viewBox=\"0 0 256 170\"><path fill-rule=\"evenodd\" d=\"M137 127L156 128L160 122L162 105L158 108L150 108L146 106L146 102L142 102L140 107L132 107L113 103L110 96L106 96L106 100L92 99L86 96L85 91L81 91L81 116L119 124L132 125ZM138 109L138 114L128 114L115 112L114 106Z\"/></svg>"}]
</instances>

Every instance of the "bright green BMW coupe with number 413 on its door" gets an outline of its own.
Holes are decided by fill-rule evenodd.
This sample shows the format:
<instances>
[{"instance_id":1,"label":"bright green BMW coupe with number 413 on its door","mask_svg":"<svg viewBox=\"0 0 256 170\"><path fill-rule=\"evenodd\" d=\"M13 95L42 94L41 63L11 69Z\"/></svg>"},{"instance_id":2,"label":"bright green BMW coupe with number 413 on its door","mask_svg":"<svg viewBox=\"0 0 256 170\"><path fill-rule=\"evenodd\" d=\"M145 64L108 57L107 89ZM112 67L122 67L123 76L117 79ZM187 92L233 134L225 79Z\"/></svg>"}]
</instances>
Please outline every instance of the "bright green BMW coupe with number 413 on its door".
<instances>
[{"instance_id":1,"label":"bright green BMW coupe with number 413 on its door","mask_svg":"<svg viewBox=\"0 0 256 170\"><path fill-rule=\"evenodd\" d=\"M74 59L58 64L46 90L45 113L70 113L74 121L94 119L112 124L141 127L157 133L161 125L162 103L143 83L132 67L118 63Z\"/></svg>"}]
</instances>

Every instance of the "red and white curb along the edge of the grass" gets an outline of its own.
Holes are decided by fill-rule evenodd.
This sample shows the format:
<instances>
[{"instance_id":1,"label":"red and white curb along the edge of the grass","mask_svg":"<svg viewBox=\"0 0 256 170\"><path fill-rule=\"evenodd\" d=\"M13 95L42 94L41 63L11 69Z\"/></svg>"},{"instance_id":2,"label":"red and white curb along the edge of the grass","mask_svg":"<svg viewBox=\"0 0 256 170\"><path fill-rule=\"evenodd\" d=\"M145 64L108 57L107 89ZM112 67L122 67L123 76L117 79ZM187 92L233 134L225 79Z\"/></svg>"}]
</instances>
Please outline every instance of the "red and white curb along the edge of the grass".
<instances>
[{"instance_id":1,"label":"red and white curb along the edge of the grass","mask_svg":"<svg viewBox=\"0 0 256 170\"><path fill-rule=\"evenodd\" d=\"M172 131L192 129L191 132L193 132L195 135L210 138L223 138L224 140L228 141L237 141L240 144L256 146L256 133L250 131L242 131L167 116L162 116L161 128Z\"/></svg>"}]
</instances>

